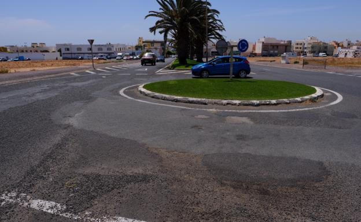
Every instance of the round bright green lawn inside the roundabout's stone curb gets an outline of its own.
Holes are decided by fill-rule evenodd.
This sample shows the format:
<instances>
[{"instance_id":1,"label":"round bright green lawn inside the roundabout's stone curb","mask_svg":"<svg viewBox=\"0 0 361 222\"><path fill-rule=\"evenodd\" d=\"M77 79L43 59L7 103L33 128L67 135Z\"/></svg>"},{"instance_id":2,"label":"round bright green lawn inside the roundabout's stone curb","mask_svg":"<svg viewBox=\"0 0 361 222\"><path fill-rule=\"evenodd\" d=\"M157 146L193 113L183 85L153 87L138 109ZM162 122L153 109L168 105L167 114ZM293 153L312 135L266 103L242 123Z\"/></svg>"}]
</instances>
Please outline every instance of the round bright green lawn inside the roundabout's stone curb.
<instances>
[{"instance_id":1,"label":"round bright green lawn inside the roundabout's stone curb","mask_svg":"<svg viewBox=\"0 0 361 222\"><path fill-rule=\"evenodd\" d=\"M205 99L291 99L314 94L316 89L293 82L208 78L149 83L145 89L161 94Z\"/></svg>"}]
</instances>

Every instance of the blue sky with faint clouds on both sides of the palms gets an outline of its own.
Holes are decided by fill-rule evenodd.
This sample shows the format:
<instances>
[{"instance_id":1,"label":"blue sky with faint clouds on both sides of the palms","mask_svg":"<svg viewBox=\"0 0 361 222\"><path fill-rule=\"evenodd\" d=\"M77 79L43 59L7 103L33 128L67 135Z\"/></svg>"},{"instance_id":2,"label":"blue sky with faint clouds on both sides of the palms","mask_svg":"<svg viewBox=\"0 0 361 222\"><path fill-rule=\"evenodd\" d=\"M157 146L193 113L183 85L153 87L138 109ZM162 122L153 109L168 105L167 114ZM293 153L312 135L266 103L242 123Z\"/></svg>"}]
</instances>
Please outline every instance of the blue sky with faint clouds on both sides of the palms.
<instances>
[{"instance_id":1,"label":"blue sky with faint clouds on both sides of the palms","mask_svg":"<svg viewBox=\"0 0 361 222\"><path fill-rule=\"evenodd\" d=\"M263 36L298 40L361 40L360 0L209 0L221 12L226 39L256 41ZM162 39L148 28L155 0L1 1L0 45L45 42L135 44L139 36Z\"/></svg>"}]
</instances>

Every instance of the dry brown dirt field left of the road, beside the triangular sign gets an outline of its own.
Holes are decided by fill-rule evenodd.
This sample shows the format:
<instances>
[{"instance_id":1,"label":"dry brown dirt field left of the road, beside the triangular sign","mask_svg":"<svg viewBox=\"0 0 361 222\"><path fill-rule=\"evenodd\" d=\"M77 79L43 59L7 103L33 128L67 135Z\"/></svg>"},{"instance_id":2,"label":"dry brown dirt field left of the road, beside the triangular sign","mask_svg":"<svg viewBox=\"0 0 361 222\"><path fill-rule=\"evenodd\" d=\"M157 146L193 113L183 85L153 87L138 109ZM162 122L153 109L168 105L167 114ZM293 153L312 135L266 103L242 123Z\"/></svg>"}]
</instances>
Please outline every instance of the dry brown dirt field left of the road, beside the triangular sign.
<instances>
[{"instance_id":1,"label":"dry brown dirt field left of the road, beside the triangular sign","mask_svg":"<svg viewBox=\"0 0 361 222\"><path fill-rule=\"evenodd\" d=\"M94 60L94 63L96 64L108 62L109 61L105 60ZM9 69L10 72L25 72L90 64L92 64L91 60L31 60L18 62L1 62L0 69Z\"/></svg>"}]
</instances>

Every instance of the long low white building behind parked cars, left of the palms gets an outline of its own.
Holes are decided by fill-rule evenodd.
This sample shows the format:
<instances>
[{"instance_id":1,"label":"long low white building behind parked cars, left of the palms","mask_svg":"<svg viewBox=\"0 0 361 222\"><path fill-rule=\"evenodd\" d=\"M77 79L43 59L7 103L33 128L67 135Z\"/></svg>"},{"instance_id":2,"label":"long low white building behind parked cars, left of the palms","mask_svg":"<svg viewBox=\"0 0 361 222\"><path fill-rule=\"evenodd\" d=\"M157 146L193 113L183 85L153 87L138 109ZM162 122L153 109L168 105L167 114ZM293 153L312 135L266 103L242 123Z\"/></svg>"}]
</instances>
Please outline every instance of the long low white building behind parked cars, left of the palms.
<instances>
[{"instance_id":1,"label":"long low white building behind parked cars, left of the palms","mask_svg":"<svg viewBox=\"0 0 361 222\"><path fill-rule=\"evenodd\" d=\"M70 43L56 44L56 51L60 53L63 59L76 59L82 56L84 59L91 59L91 46L89 44L73 45ZM97 54L106 54L109 56L116 56L117 53L131 53L139 54L134 50L134 46L127 46L125 44L102 44L93 45L93 56Z\"/></svg>"}]
</instances>

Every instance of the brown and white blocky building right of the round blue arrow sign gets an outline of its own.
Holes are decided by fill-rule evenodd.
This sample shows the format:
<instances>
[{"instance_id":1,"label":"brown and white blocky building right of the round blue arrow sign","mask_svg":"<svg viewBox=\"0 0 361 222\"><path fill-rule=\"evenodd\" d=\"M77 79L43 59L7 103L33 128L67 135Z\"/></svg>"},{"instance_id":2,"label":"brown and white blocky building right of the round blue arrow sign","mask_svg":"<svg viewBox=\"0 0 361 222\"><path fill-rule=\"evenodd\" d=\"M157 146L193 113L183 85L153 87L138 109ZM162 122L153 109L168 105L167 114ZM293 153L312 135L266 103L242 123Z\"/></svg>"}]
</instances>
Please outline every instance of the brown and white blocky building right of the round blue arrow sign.
<instances>
[{"instance_id":1,"label":"brown and white blocky building right of the round blue arrow sign","mask_svg":"<svg viewBox=\"0 0 361 222\"><path fill-rule=\"evenodd\" d=\"M272 37L263 37L256 42L257 56L278 56L292 51L291 40L277 40Z\"/></svg>"}]
</instances>

